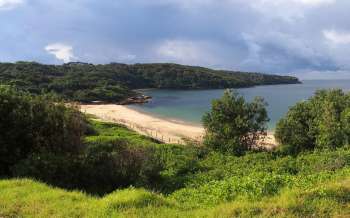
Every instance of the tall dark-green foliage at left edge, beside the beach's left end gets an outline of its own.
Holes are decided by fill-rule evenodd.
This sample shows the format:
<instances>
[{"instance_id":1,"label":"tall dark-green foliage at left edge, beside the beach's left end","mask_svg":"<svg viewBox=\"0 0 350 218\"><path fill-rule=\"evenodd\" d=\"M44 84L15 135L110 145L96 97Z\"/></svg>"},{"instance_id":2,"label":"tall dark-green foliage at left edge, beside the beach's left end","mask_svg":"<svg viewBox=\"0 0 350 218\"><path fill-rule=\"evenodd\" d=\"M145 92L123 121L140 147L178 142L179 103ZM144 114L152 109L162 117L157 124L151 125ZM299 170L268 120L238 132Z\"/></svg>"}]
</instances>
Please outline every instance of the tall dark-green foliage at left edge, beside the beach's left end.
<instances>
[{"instance_id":1,"label":"tall dark-green foliage at left edge, beside the beach's left end","mask_svg":"<svg viewBox=\"0 0 350 218\"><path fill-rule=\"evenodd\" d=\"M0 86L0 113L0 175L33 153L73 154L83 147L85 121L72 106Z\"/></svg>"}]
</instances>

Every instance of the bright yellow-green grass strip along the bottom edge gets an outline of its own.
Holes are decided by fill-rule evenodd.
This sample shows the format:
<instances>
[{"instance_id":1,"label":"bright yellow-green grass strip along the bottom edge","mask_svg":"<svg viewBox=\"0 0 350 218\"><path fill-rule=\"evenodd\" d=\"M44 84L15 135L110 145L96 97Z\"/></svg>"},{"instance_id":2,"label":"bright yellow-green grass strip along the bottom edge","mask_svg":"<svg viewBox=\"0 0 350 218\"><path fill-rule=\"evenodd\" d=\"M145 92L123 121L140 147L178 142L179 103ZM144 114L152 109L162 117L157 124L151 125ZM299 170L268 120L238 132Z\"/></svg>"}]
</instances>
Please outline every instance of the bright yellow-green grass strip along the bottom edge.
<instances>
[{"instance_id":1,"label":"bright yellow-green grass strip along the bottom edge","mask_svg":"<svg viewBox=\"0 0 350 218\"><path fill-rule=\"evenodd\" d=\"M28 179L0 181L1 217L349 217L350 175L308 190L285 189L259 201L240 199L186 209L144 189L128 188L102 198L68 192Z\"/></svg>"}]
</instances>

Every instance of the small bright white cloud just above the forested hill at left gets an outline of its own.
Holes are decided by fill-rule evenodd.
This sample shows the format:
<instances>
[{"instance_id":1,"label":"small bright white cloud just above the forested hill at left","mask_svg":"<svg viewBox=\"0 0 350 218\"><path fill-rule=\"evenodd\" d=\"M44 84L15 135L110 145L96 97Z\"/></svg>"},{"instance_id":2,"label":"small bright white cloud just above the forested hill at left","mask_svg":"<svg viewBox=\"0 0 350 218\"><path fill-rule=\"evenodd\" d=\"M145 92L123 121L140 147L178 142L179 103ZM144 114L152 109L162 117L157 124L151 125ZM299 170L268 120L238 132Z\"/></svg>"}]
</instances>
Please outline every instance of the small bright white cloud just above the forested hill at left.
<instances>
[{"instance_id":1,"label":"small bright white cloud just above the forested hill at left","mask_svg":"<svg viewBox=\"0 0 350 218\"><path fill-rule=\"evenodd\" d=\"M73 47L70 45L65 45L62 43L54 43L54 44L47 45L45 47L45 50L48 53L55 55L55 57L58 60L61 60L65 63L76 59L73 54Z\"/></svg>"}]
</instances>

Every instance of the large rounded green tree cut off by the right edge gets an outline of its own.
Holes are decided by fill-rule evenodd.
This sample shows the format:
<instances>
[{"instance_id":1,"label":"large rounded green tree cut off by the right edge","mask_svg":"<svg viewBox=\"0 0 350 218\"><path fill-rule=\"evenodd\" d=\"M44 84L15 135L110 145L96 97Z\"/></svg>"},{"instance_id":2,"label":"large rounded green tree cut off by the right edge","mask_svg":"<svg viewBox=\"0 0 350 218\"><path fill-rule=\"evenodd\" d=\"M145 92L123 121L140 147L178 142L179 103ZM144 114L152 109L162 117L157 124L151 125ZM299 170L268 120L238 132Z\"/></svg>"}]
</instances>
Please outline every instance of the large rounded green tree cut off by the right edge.
<instances>
[{"instance_id":1,"label":"large rounded green tree cut off by the right edge","mask_svg":"<svg viewBox=\"0 0 350 218\"><path fill-rule=\"evenodd\" d=\"M276 128L276 139L289 153L334 149L349 143L350 94L320 90L307 101L290 108Z\"/></svg>"}]
</instances>

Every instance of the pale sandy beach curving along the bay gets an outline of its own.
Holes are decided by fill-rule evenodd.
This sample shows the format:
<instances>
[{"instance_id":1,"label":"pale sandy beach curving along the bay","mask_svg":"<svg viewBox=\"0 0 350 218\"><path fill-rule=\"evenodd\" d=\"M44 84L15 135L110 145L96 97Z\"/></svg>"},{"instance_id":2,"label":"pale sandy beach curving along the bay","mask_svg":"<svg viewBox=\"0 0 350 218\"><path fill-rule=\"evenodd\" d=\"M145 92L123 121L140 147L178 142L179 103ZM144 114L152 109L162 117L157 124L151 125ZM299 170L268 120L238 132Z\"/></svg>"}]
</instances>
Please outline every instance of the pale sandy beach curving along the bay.
<instances>
[{"instance_id":1,"label":"pale sandy beach curving along the bay","mask_svg":"<svg viewBox=\"0 0 350 218\"><path fill-rule=\"evenodd\" d=\"M184 144L186 140L200 142L204 135L204 128L200 125L160 118L123 105L80 105L80 109L101 120L123 124L164 143ZM276 147L273 133L269 132L259 144L270 149Z\"/></svg>"}]
</instances>

